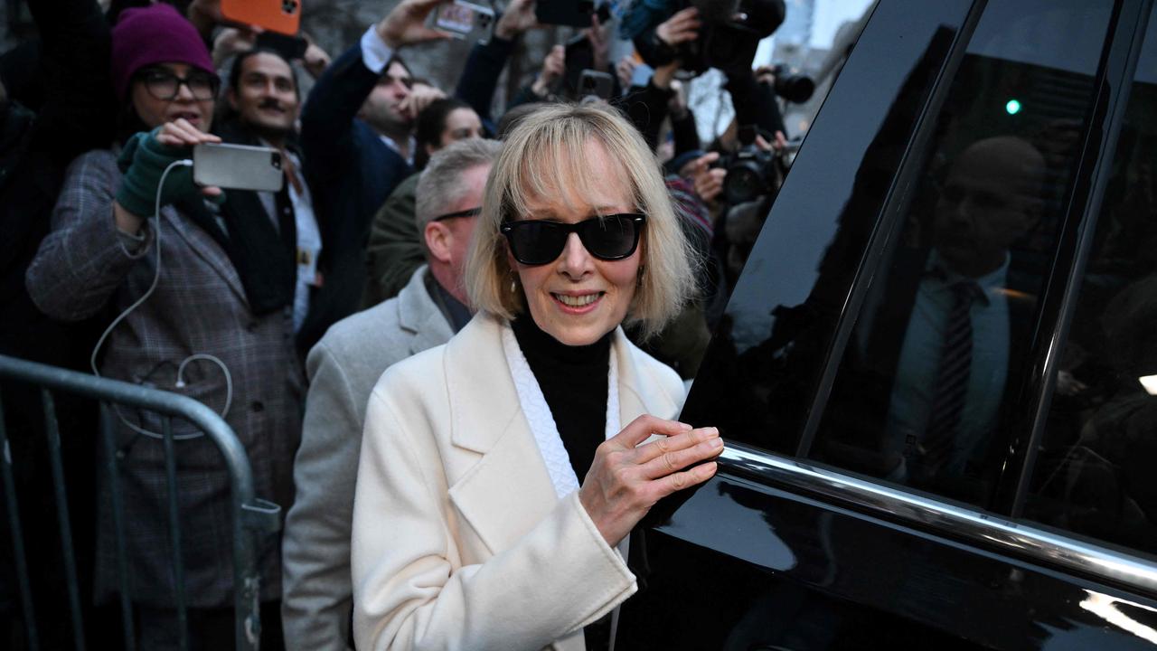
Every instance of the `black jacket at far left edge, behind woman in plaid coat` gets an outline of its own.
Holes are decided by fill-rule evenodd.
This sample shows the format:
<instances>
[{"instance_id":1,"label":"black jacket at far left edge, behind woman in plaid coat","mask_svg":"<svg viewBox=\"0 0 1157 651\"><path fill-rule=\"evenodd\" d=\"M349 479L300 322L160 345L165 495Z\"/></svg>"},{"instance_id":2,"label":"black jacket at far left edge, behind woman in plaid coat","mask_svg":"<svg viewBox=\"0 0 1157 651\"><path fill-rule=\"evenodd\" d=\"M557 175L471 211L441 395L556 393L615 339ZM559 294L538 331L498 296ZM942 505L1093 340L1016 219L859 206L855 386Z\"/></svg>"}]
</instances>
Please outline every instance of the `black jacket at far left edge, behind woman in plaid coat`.
<instances>
[{"instance_id":1,"label":"black jacket at far left edge, behind woman in plaid coat","mask_svg":"<svg viewBox=\"0 0 1157 651\"><path fill-rule=\"evenodd\" d=\"M40 29L43 102L35 115L17 103L0 110L0 354L68 366L83 348L76 328L36 309L24 272L49 233L65 167L112 139L111 37L96 2L42 0L29 9Z\"/></svg>"}]
</instances>

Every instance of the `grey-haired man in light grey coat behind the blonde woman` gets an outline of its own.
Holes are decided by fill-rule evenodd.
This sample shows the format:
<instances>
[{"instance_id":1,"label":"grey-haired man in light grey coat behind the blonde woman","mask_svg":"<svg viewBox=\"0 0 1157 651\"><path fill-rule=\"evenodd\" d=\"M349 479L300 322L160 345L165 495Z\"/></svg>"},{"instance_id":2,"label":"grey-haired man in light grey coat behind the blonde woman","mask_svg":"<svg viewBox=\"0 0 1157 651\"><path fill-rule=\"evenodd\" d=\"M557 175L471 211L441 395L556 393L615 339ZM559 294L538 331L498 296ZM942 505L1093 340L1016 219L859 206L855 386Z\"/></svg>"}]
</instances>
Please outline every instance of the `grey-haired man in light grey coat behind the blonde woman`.
<instances>
[{"instance_id":1,"label":"grey-haired man in light grey coat behind the blonde woman","mask_svg":"<svg viewBox=\"0 0 1157 651\"><path fill-rule=\"evenodd\" d=\"M434 155L418 184L415 218L427 264L400 294L338 322L309 353L297 495L285 529L289 649L349 646L349 535L366 404L389 366L445 343L470 321L466 247L500 148L474 138Z\"/></svg>"}]
</instances>

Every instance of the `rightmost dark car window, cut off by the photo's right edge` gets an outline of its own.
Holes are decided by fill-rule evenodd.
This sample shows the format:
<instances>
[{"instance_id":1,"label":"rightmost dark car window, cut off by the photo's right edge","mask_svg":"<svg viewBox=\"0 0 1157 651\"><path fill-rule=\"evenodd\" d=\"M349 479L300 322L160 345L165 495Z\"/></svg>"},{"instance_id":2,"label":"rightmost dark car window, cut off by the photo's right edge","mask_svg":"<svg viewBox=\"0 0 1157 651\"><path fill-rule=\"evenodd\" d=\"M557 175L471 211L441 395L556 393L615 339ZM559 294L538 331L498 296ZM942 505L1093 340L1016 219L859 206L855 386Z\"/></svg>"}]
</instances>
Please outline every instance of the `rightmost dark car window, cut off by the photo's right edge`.
<instances>
[{"instance_id":1,"label":"rightmost dark car window, cut off by the photo's right edge","mask_svg":"<svg viewBox=\"0 0 1157 651\"><path fill-rule=\"evenodd\" d=\"M1025 517L1157 553L1157 23L1149 19Z\"/></svg>"}]
</instances>

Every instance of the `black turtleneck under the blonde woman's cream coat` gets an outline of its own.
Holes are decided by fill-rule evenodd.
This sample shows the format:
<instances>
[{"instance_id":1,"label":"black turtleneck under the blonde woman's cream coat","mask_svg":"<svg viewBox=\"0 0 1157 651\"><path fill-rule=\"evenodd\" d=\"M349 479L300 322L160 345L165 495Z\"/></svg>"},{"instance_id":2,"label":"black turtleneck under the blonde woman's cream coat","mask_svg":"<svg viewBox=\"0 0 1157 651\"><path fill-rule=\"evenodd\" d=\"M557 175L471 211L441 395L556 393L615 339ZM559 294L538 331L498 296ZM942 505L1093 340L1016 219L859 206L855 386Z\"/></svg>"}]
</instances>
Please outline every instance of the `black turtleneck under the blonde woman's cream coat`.
<instances>
[{"instance_id":1,"label":"black turtleneck under the blonde woman's cream coat","mask_svg":"<svg viewBox=\"0 0 1157 651\"><path fill-rule=\"evenodd\" d=\"M595 448L606 439L606 373L613 331L594 344L568 346L540 330L529 314L510 326L581 484L595 461Z\"/></svg>"}]
</instances>

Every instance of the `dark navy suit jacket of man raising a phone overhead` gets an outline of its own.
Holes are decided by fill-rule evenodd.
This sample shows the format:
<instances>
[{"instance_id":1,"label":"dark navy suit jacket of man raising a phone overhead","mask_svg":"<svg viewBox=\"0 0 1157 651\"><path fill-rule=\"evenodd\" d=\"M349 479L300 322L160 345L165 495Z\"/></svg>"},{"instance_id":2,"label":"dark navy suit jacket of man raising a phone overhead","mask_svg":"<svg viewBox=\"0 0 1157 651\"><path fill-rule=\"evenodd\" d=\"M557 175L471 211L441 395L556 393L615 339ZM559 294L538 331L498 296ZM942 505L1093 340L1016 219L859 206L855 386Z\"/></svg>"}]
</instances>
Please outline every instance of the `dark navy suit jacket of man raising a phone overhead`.
<instances>
[{"instance_id":1,"label":"dark navy suit jacket of man raising a phone overhead","mask_svg":"<svg viewBox=\"0 0 1157 651\"><path fill-rule=\"evenodd\" d=\"M322 231L318 268L324 284L297 334L301 350L308 351L330 324L358 310L370 219L413 171L356 117L378 76L366 67L361 44L354 44L317 80L302 112L303 164Z\"/></svg>"}]
</instances>

